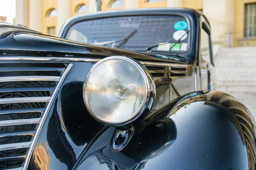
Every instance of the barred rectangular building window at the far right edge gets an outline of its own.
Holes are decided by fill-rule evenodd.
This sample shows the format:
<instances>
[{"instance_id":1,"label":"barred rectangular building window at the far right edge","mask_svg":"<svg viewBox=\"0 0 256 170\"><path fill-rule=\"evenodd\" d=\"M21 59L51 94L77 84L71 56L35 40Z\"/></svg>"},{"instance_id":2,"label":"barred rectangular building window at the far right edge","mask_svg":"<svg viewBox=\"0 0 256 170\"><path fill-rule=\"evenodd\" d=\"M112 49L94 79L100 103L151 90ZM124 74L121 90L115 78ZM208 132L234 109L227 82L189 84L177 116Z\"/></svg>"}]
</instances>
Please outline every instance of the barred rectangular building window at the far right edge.
<instances>
[{"instance_id":1,"label":"barred rectangular building window at the far right edge","mask_svg":"<svg viewBox=\"0 0 256 170\"><path fill-rule=\"evenodd\" d=\"M244 5L244 37L256 37L256 3Z\"/></svg>"}]
</instances>

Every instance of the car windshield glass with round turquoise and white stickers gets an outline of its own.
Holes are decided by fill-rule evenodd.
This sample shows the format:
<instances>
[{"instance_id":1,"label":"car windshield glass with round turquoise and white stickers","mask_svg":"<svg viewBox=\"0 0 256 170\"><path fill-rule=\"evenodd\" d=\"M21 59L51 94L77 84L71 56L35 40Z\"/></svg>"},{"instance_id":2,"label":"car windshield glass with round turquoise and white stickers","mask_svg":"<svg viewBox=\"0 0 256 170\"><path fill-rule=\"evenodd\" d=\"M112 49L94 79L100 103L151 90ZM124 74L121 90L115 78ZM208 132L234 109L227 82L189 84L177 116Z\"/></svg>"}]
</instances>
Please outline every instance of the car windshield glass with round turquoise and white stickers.
<instances>
[{"instance_id":1,"label":"car windshield glass with round turquoise and white stickers","mask_svg":"<svg viewBox=\"0 0 256 170\"><path fill-rule=\"evenodd\" d=\"M122 49L146 51L147 47L163 43L152 51L186 51L189 47L189 25L181 16L125 16L84 20L74 24L66 39L106 45L116 48L134 30ZM177 42L179 43L166 43ZM173 47L173 45L175 45Z\"/></svg>"}]
</instances>

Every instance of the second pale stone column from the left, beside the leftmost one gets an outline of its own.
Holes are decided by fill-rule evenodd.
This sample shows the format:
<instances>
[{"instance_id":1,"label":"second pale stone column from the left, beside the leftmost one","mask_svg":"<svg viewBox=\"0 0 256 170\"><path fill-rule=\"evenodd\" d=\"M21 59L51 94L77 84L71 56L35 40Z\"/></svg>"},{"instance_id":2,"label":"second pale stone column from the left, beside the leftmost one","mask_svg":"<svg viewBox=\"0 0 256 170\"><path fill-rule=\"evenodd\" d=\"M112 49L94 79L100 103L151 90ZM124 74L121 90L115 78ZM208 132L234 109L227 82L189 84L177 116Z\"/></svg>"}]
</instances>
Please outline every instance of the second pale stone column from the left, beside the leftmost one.
<instances>
[{"instance_id":1,"label":"second pale stone column from the left, beside the leftmost one","mask_svg":"<svg viewBox=\"0 0 256 170\"><path fill-rule=\"evenodd\" d=\"M29 28L39 32L42 30L41 3L41 0L29 1Z\"/></svg>"}]
</instances>

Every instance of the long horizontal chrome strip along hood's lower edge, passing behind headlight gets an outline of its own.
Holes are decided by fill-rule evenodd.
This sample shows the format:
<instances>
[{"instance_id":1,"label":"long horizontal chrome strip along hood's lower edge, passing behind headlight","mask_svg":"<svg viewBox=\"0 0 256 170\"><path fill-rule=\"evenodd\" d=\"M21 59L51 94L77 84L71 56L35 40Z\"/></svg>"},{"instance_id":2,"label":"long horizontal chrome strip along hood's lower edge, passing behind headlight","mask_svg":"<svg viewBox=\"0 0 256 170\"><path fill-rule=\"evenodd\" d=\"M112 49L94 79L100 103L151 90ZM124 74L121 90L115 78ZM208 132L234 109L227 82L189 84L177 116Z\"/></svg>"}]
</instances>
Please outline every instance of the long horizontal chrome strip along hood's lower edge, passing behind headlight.
<instances>
[{"instance_id":1,"label":"long horizontal chrome strip along hood's lower edge, passing behind headlight","mask_svg":"<svg viewBox=\"0 0 256 170\"><path fill-rule=\"evenodd\" d=\"M53 61L53 62L98 62L102 59L92 59L92 58L71 58L71 57L0 57L0 61ZM170 60L171 61L171 60ZM187 68L186 64L177 64L172 62L145 62L138 61L143 65L149 66L175 66Z\"/></svg>"}]
</instances>

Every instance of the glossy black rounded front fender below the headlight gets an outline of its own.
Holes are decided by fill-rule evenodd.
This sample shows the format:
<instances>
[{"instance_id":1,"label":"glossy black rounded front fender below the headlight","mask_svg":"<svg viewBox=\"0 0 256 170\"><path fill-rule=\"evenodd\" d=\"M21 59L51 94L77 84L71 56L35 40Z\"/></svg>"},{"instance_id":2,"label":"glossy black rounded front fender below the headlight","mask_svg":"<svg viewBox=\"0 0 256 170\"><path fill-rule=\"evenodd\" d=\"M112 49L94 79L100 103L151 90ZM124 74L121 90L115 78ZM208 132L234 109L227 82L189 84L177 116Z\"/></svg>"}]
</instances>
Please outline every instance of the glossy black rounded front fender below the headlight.
<instances>
[{"instance_id":1,"label":"glossy black rounded front fender below the headlight","mask_svg":"<svg viewBox=\"0 0 256 170\"><path fill-rule=\"evenodd\" d=\"M115 127L105 127L74 169L254 170L255 121L237 99L218 91L196 91L148 113L134 134L111 151Z\"/></svg>"}]
</instances>

